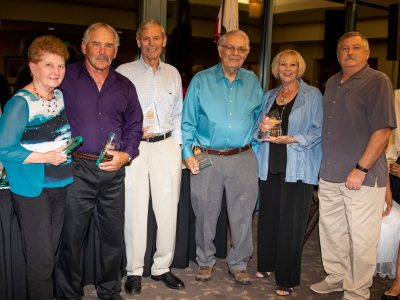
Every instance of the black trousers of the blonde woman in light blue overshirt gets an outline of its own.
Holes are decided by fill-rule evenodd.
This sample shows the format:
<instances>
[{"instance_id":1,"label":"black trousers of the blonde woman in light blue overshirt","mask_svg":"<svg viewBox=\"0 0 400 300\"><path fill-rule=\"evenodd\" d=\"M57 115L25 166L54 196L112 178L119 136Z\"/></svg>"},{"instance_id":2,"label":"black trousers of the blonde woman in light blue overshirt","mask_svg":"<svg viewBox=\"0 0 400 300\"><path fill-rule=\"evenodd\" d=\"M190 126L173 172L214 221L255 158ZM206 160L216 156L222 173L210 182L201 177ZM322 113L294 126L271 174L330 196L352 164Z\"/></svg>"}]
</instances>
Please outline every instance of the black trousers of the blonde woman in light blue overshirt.
<instances>
[{"instance_id":1,"label":"black trousers of the blonde woman in light blue overshirt","mask_svg":"<svg viewBox=\"0 0 400 300\"><path fill-rule=\"evenodd\" d=\"M301 254L313 185L285 182L285 174L260 181L257 271L275 272L276 284L300 284Z\"/></svg>"}]
</instances>

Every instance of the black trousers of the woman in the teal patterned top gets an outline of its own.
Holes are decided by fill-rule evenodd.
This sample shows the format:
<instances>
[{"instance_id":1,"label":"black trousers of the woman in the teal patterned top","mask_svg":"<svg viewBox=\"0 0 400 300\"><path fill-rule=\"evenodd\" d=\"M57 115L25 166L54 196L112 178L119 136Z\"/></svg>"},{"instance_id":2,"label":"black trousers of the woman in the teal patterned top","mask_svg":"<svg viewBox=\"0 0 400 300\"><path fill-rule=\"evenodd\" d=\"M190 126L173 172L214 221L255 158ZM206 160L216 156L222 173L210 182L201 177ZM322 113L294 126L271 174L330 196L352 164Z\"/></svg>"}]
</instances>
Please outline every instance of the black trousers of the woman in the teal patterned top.
<instances>
[{"instance_id":1,"label":"black trousers of the woman in the teal patterned top","mask_svg":"<svg viewBox=\"0 0 400 300\"><path fill-rule=\"evenodd\" d=\"M53 300L53 272L62 230L65 188L43 189L38 197L12 193L21 229L28 299Z\"/></svg>"}]
</instances>

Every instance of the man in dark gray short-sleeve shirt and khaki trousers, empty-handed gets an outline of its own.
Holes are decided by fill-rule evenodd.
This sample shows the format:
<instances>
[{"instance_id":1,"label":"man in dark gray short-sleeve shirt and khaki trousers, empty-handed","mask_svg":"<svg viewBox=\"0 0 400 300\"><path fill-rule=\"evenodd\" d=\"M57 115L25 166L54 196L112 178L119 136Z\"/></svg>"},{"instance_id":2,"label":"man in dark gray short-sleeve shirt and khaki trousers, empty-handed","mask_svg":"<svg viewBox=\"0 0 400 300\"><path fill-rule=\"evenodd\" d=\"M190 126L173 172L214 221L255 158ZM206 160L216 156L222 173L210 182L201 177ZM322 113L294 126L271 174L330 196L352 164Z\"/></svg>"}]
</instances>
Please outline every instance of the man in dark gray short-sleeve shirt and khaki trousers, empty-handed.
<instances>
[{"instance_id":1,"label":"man in dark gray short-sleeve shirt and khaki trousers, empty-handed","mask_svg":"<svg viewBox=\"0 0 400 300\"><path fill-rule=\"evenodd\" d=\"M387 181L384 149L396 127L393 88L369 68L368 40L348 32L338 42L342 70L324 95L320 241L327 277L311 289L369 299Z\"/></svg>"}]
</instances>

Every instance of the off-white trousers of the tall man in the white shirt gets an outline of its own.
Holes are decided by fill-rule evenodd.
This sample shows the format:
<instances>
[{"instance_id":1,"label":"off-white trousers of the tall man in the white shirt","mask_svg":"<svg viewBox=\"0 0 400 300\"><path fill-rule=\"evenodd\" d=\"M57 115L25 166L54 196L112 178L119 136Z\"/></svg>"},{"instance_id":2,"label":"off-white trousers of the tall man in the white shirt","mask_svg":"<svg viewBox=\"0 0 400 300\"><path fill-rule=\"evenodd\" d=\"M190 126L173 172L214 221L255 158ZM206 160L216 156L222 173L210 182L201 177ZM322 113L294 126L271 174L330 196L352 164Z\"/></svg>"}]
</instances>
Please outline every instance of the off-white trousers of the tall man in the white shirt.
<instances>
[{"instance_id":1,"label":"off-white trousers of the tall man in the white shirt","mask_svg":"<svg viewBox=\"0 0 400 300\"><path fill-rule=\"evenodd\" d=\"M169 271L174 258L181 182L181 149L172 138L141 142L139 156L126 168L125 243L128 275L143 274L149 197L157 221L152 275Z\"/></svg>"}]
</instances>

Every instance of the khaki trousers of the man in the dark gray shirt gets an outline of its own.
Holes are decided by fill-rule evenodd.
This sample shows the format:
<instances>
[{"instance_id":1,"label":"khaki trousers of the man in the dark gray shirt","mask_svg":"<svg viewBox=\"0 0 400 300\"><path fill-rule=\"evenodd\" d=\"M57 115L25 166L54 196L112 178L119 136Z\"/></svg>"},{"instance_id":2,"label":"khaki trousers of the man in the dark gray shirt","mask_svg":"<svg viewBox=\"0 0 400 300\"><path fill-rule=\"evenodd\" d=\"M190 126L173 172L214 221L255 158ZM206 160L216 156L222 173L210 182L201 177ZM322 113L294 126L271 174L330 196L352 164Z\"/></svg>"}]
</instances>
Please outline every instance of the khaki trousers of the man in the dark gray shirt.
<instances>
[{"instance_id":1,"label":"khaki trousers of the man in the dark gray shirt","mask_svg":"<svg viewBox=\"0 0 400 300\"><path fill-rule=\"evenodd\" d=\"M320 180L319 234L330 285L343 284L345 299L369 299L386 187L349 190Z\"/></svg>"}]
</instances>

